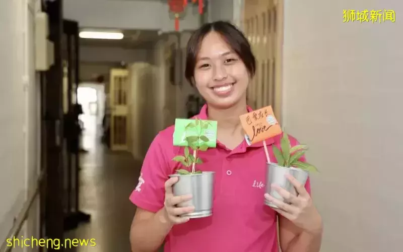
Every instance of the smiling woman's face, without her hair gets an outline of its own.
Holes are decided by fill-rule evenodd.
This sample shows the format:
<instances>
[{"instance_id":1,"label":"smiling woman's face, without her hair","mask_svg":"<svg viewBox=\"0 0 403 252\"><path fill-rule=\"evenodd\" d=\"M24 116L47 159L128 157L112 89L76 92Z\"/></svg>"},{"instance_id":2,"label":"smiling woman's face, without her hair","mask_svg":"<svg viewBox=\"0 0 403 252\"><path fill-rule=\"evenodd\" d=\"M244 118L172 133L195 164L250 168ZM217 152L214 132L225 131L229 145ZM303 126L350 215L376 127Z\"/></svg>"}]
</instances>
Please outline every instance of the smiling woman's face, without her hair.
<instances>
[{"instance_id":1,"label":"smiling woman's face, without her hair","mask_svg":"<svg viewBox=\"0 0 403 252\"><path fill-rule=\"evenodd\" d=\"M246 99L249 73L221 35L212 31L201 42L194 81L209 105L225 109Z\"/></svg>"}]
</instances>

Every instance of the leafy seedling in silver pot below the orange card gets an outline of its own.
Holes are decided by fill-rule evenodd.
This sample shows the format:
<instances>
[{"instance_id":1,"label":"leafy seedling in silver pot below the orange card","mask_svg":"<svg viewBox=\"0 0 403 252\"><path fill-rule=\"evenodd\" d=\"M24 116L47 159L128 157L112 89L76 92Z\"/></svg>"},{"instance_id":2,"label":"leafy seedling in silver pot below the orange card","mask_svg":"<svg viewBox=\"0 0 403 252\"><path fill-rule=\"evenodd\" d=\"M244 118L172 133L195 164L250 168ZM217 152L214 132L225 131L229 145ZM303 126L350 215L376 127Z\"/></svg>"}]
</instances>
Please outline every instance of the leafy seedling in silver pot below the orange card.
<instances>
[{"instance_id":1,"label":"leafy seedling in silver pot below the orange card","mask_svg":"<svg viewBox=\"0 0 403 252\"><path fill-rule=\"evenodd\" d=\"M266 172L266 193L272 197L288 203L282 196L280 196L275 190L272 190L272 184L277 184L283 187L286 191L292 195L297 196L298 193L294 185L288 180L286 174L290 174L295 177L298 182L305 184L308 179L309 172L317 171L316 167L307 163L301 162L299 159L308 150L307 145L296 145L291 147L288 135L283 132L283 138L281 139L281 150L276 146L273 146L273 153L276 157L277 163L267 163ZM277 208L271 202L265 200L265 204L272 208Z\"/></svg>"}]
</instances>

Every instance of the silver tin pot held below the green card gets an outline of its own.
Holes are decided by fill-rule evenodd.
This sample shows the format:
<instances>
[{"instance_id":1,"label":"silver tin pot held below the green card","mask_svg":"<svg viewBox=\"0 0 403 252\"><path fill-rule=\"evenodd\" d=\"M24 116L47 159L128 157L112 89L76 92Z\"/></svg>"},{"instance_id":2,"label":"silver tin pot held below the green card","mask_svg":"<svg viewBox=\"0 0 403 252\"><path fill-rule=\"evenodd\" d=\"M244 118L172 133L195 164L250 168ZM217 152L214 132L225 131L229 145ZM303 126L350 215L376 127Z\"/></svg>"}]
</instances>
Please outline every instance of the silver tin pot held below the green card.
<instances>
[{"instance_id":1,"label":"silver tin pot held below the green card","mask_svg":"<svg viewBox=\"0 0 403 252\"><path fill-rule=\"evenodd\" d=\"M178 204L178 207L193 206L192 213L184 214L189 218L202 218L212 215L214 171L204 171L201 174L181 175L171 174L169 177L179 177L172 189L174 196L192 195L192 199Z\"/></svg>"}]
</instances>

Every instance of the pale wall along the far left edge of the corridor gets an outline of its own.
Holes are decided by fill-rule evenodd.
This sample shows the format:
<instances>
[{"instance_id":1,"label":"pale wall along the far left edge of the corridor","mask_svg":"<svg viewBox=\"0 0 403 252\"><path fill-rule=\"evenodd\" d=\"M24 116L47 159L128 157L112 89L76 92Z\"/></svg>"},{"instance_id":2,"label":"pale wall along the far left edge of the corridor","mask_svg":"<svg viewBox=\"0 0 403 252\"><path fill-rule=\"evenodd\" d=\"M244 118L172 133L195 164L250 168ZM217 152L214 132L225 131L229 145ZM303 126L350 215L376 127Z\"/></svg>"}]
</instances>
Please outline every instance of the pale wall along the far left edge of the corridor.
<instances>
[{"instance_id":1,"label":"pale wall along the far left edge of the corridor","mask_svg":"<svg viewBox=\"0 0 403 252\"><path fill-rule=\"evenodd\" d=\"M0 2L0 244L38 175L39 83L34 71L33 21L40 2L29 2L30 6L27 0ZM38 236L37 231L38 201L20 235Z\"/></svg>"}]
</instances>

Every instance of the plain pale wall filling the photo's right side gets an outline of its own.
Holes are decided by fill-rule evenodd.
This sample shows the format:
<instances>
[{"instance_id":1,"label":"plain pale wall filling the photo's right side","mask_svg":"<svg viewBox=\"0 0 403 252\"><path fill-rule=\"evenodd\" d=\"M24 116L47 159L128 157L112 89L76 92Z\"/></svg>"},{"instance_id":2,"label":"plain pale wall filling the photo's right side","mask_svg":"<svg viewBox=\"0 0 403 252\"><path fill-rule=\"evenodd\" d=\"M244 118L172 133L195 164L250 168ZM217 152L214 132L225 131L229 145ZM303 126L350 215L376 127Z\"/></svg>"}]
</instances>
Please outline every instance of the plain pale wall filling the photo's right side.
<instances>
[{"instance_id":1,"label":"plain pale wall filling the photo's right side","mask_svg":"<svg viewBox=\"0 0 403 252\"><path fill-rule=\"evenodd\" d=\"M343 9L395 23L343 23ZM403 2L285 1L284 120L310 145L323 252L401 251Z\"/></svg>"}]
</instances>

